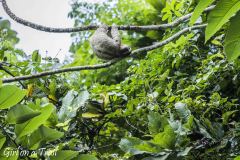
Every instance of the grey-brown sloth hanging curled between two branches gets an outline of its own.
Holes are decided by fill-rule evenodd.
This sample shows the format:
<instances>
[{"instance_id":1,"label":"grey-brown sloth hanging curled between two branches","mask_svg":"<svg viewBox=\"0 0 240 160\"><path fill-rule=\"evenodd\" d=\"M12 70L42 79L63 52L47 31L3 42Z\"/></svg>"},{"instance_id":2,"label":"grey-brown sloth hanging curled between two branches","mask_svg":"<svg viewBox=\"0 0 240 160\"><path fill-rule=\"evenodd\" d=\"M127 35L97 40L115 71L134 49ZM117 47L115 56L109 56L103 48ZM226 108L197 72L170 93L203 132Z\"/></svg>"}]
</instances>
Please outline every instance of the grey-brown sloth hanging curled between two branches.
<instances>
[{"instance_id":1,"label":"grey-brown sloth hanging curled between two branches","mask_svg":"<svg viewBox=\"0 0 240 160\"><path fill-rule=\"evenodd\" d=\"M112 60L126 57L131 53L131 48L121 44L121 37L116 25L109 27L101 25L90 37L90 45L98 58Z\"/></svg>"}]
</instances>

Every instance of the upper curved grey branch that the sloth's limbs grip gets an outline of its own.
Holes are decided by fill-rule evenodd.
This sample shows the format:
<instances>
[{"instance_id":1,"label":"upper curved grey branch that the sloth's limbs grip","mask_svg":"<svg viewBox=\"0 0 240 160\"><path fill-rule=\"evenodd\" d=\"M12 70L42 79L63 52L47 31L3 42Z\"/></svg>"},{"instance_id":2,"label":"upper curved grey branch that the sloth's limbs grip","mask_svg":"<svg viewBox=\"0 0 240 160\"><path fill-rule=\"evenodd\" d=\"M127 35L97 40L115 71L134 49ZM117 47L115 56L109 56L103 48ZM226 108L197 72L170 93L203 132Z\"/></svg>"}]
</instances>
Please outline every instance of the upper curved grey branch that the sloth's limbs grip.
<instances>
[{"instance_id":1,"label":"upper curved grey branch that the sloth's limbs grip","mask_svg":"<svg viewBox=\"0 0 240 160\"><path fill-rule=\"evenodd\" d=\"M6 0L2 0L2 6L5 12L9 15L10 18L12 18L14 21L28 26L30 28L40 30L40 31L45 31L45 32L53 32L53 33L71 33L71 32L79 32L79 31L85 31L85 30L94 30L98 28L99 26L97 25L89 25L89 26L81 26L81 27L76 27L76 28L51 28L51 27L46 27L43 25L39 25L27 20L24 20L17 15L15 15L10 8L7 5ZM210 6L206 8L204 11L210 11L214 8L215 6ZM147 26L118 26L119 30L133 30L133 31L144 31L144 30L162 30L162 29L167 29L167 28L173 28L180 24L181 22L184 22L186 20L189 20L189 18L192 16L193 13L186 14L185 16L182 16L175 21L167 24L161 24L161 25L147 25Z\"/></svg>"}]
</instances>

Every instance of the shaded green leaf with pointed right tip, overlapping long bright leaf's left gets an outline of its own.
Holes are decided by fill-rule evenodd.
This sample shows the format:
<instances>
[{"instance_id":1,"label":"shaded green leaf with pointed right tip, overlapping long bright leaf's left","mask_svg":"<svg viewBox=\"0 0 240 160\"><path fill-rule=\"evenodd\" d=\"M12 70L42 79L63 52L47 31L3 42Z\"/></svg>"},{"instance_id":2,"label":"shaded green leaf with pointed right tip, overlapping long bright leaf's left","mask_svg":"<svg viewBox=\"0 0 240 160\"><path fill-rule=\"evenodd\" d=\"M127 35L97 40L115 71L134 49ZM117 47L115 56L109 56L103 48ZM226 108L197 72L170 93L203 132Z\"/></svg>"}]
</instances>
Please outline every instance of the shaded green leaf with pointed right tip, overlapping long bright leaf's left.
<instances>
[{"instance_id":1,"label":"shaded green leaf with pointed right tip, overlapping long bright leaf's left","mask_svg":"<svg viewBox=\"0 0 240 160\"><path fill-rule=\"evenodd\" d=\"M26 105L16 105L8 111L7 122L10 124L19 124L40 114L40 111L34 111Z\"/></svg>"}]
</instances>

